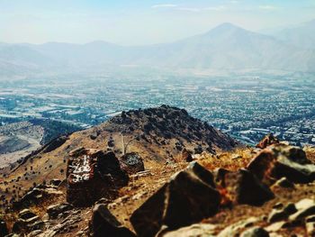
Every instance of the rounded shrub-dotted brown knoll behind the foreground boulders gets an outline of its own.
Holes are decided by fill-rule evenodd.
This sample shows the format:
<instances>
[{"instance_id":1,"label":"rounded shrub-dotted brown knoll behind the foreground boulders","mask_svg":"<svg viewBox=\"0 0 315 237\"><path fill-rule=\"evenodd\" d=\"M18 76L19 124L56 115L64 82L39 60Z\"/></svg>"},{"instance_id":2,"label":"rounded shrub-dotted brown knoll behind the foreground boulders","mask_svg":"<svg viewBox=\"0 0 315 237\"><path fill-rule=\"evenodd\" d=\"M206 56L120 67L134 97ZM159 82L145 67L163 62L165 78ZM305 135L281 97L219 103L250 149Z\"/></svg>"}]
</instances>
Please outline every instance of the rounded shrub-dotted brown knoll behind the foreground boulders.
<instances>
[{"instance_id":1,"label":"rounded shrub-dotted brown knoll behind the foreground boulders","mask_svg":"<svg viewBox=\"0 0 315 237\"><path fill-rule=\"evenodd\" d=\"M201 153L208 150L215 153L230 150L238 142L215 130L207 123L191 117L184 110L162 105L157 108L122 112L106 123L94 128L74 132L64 143L51 146L55 149L40 151L29 156L23 164L11 172L4 169L4 180L8 186L0 184L2 190L9 188L7 200L22 196L32 186L53 178L63 179L70 150L79 147L87 149L113 150L116 156L122 153L138 152L144 160L146 169L156 169L168 163L182 160L183 150ZM59 146L59 147L58 147ZM19 178L20 177L20 178ZM31 182L29 181L31 180ZM14 187L14 188L13 188ZM20 189L21 188L21 189Z\"/></svg>"}]
</instances>

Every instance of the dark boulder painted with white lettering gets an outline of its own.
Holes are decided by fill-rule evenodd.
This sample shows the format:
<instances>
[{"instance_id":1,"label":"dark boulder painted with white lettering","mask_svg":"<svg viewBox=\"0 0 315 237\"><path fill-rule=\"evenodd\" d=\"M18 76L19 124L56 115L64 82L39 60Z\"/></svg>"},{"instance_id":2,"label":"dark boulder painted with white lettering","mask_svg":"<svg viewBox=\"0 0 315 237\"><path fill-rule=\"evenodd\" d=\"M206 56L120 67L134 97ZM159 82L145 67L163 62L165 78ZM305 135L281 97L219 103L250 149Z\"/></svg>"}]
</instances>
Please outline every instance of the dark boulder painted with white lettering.
<instances>
[{"instance_id":1,"label":"dark boulder painted with white lettering","mask_svg":"<svg viewBox=\"0 0 315 237\"><path fill-rule=\"evenodd\" d=\"M128 184L113 152L79 148L69 153L67 162L67 203L94 204L101 197L114 197L117 188Z\"/></svg>"}]
</instances>

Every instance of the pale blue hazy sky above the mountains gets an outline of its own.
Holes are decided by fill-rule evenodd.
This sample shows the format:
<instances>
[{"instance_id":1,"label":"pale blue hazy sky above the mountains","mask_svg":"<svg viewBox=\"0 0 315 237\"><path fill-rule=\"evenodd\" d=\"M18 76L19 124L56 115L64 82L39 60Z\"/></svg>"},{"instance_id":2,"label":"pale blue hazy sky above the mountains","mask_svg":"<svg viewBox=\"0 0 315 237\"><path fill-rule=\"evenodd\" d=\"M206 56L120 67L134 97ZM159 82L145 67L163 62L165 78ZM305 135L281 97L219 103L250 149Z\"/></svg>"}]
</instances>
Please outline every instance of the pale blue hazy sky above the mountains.
<instances>
[{"instance_id":1,"label":"pale blue hazy sky above the mountains","mask_svg":"<svg viewBox=\"0 0 315 237\"><path fill-rule=\"evenodd\" d=\"M225 22L259 31L314 18L314 0L0 0L0 41L139 45Z\"/></svg>"}]
</instances>

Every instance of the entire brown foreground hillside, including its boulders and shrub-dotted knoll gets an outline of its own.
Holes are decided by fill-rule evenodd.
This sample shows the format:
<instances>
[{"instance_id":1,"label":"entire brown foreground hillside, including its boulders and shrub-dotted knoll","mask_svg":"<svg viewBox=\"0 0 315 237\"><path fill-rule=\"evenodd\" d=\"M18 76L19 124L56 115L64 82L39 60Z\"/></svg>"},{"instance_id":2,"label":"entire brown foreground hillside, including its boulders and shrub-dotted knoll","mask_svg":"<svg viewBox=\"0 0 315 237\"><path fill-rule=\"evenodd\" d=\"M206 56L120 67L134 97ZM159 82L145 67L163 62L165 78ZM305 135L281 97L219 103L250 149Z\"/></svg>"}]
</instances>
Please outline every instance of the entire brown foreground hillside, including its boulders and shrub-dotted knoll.
<instances>
[{"instance_id":1,"label":"entire brown foreground hillside, including its boulders and shrub-dotted knoll","mask_svg":"<svg viewBox=\"0 0 315 237\"><path fill-rule=\"evenodd\" d=\"M257 147L184 109L122 112L3 170L0 223L41 237L313 236L315 149L272 135Z\"/></svg>"}]
</instances>

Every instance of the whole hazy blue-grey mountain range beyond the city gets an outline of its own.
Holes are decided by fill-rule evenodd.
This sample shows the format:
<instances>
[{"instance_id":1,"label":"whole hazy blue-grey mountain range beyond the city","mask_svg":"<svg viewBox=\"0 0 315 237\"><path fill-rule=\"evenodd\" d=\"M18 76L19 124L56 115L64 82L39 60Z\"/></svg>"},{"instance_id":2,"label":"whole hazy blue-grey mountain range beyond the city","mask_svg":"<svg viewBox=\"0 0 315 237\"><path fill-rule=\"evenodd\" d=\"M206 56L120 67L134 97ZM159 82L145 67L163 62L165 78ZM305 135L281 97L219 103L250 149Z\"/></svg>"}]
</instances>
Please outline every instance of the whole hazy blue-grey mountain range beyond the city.
<instances>
[{"instance_id":1,"label":"whole hazy blue-grey mountain range beyond the city","mask_svg":"<svg viewBox=\"0 0 315 237\"><path fill-rule=\"evenodd\" d=\"M149 46L49 42L0 44L0 75L29 72L98 71L112 66L192 70L315 71L315 21L274 35L222 23L181 41Z\"/></svg>"}]
</instances>

